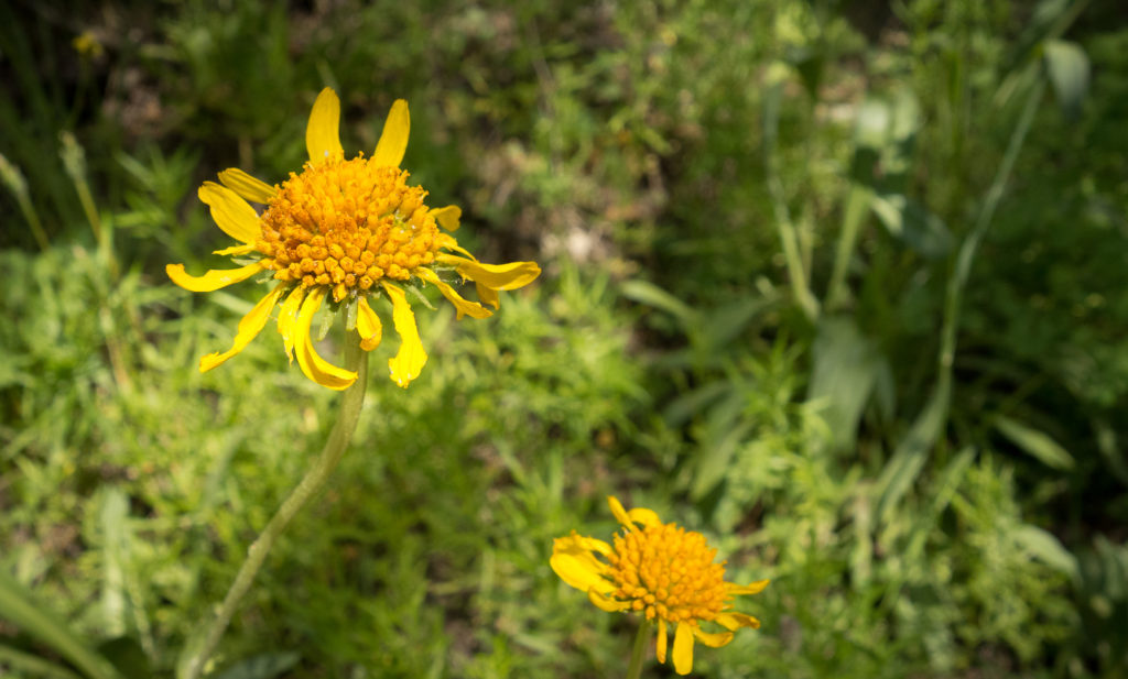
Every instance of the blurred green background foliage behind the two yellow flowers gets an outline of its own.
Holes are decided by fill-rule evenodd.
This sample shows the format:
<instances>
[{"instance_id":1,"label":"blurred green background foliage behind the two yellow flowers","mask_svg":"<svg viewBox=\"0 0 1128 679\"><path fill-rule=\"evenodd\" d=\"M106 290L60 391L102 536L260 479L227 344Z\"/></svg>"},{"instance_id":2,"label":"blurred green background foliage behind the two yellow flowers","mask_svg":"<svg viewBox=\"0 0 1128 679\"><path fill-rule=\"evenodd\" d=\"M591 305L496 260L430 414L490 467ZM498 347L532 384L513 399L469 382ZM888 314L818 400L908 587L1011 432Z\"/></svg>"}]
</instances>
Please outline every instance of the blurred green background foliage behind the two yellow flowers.
<instances>
[{"instance_id":1,"label":"blurred green background foliage behind the two yellow flowers","mask_svg":"<svg viewBox=\"0 0 1128 679\"><path fill-rule=\"evenodd\" d=\"M195 188L300 168L325 86L349 150L407 98L459 238L546 275L421 314L217 677L616 676L633 624L547 562L613 492L773 579L695 674L1128 673L1121 3L20 0L6 676L173 676L324 439L270 338L195 368L255 291L162 268L218 263Z\"/></svg>"}]
</instances>

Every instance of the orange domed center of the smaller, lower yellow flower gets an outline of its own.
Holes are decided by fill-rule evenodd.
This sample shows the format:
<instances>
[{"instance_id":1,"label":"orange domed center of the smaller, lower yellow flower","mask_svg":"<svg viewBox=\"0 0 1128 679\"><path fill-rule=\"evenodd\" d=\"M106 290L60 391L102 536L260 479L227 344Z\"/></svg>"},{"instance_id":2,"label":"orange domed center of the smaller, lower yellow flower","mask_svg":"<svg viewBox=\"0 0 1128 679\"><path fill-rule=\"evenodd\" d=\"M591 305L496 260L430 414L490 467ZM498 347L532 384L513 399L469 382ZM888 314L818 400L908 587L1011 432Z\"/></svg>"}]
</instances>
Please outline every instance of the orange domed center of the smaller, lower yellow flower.
<instances>
[{"instance_id":1,"label":"orange domed center of the smaller, lower yellow flower","mask_svg":"<svg viewBox=\"0 0 1128 679\"><path fill-rule=\"evenodd\" d=\"M715 557L704 535L676 524L616 535L615 553L608 556L609 574L619 588L613 596L631 600L647 619L712 620L728 595L724 562L713 563Z\"/></svg>"}]
</instances>

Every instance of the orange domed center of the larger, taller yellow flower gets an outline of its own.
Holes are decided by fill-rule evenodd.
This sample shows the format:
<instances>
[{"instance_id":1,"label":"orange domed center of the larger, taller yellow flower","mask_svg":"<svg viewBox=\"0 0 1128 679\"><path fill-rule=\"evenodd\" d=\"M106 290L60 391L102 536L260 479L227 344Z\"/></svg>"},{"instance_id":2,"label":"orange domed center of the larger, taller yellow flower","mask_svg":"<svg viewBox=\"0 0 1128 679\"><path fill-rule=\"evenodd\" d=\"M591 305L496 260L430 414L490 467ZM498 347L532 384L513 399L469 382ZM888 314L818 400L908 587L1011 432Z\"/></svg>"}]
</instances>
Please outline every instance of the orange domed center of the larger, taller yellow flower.
<instances>
[{"instance_id":1,"label":"orange domed center of the larger, taller yellow flower","mask_svg":"<svg viewBox=\"0 0 1128 679\"><path fill-rule=\"evenodd\" d=\"M255 248L266 268L279 280L332 287L338 302L381 278L407 280L439 250L426 191L407 176L363 154L290 172L261 220Z\"/></svg>"}]
</instances>

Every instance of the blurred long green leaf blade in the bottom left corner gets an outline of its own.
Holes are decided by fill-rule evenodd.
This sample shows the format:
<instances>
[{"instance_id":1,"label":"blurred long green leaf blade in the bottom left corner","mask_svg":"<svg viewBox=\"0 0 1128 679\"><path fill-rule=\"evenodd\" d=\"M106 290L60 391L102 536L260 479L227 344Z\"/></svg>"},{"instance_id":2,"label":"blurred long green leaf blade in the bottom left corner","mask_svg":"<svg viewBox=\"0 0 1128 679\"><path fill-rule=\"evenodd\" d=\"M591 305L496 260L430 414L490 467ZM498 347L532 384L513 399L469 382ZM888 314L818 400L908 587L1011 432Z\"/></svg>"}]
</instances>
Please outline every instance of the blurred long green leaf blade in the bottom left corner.
<instances>
[{"instance_id":1,"label":"blurred long green leaf blade in the bottom left corner","mask_svg":"<svg viewBox=\"0 0 1128 679\"><path fill-rule=\"evenodd\" d=\"M0 617L59 652L90 679L121 679L121 674L74 634L70 627L36 601L32 592L0 569Z\"/></svg>"}]
</instances>

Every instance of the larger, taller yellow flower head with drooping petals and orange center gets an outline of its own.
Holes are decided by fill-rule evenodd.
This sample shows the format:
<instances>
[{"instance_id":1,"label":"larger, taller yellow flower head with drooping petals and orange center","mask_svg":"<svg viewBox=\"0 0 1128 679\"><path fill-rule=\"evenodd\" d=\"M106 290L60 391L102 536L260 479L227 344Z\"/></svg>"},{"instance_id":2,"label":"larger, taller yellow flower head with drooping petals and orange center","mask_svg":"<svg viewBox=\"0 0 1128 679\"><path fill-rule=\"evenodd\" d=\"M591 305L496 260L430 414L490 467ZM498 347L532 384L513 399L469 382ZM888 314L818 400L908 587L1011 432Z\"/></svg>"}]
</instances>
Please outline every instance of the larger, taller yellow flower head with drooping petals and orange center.
<instances>
[{"instance_id":1,"label":"larger, taller yellow flower head with drooping petals and orange center","mask_svg":"<svg viewBox=\"0 0 1128 679\"><path fill-rule=\"evenodd\" d=\"M459 319L484 319L493 312L483 303L500 306L497 291L519 288L540 275L540 267L531 261L482 263L450 233L440 231L440 226L457 230L461 209L455 205L428 207L428 193L409 186L408 173L399 169L411 127L405 100L391 105L371 158L360 153L345 160L337 133L340 114L337 95L325 88L306 127L309 162L281 185L271 186L231 168L219 173L221 184L205 181L200 187L200 199L211 208L212 218L239 241L215 254L237 258L243 266L190 276L184 265L168 265L168 277L197 293L263 271L273 271L266 279L274 282L271 292L239 322L231 348L204 356L201 372L241 351L280 305L277 328L290 360L297 357L302 373L314 382L346 388L356 374L317 355L310 338L314 315L328 297L334 311L346 311L349 329L354 324L361 347L371 351L380 343L382 325L369 302L387 297L400 340L388 367L391 379L406 387L426 363L407 292L434 285L453 304ZM248 202L265 205L265 209L259 214ZM444 280L453 274L475 283L481 303L465 300Z\"/></svg>"}]
</instances>

